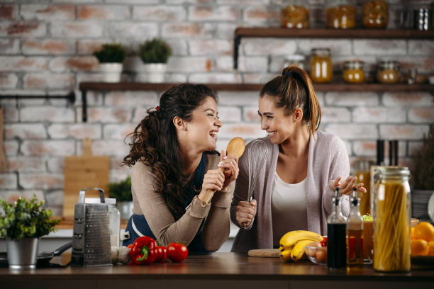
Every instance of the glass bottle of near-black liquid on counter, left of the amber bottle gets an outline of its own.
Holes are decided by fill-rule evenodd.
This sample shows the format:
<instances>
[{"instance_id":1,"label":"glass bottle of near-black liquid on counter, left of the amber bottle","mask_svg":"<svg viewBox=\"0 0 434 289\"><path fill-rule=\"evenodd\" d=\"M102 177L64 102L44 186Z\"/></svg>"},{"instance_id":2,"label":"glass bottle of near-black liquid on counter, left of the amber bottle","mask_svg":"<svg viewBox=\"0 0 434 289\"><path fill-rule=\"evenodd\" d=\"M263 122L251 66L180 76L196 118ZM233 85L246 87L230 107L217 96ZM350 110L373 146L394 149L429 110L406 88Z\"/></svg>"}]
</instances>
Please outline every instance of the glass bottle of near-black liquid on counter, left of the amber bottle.
<instances>
[{"instance_id":1,"label":"glass bottle of near-black liquid on counter, left of the amber bottle","mask_svg":"<svg viewBox=\"0 0 434 289\"><path fill-rule=\"evenodd\" d=\"M345 268L347 266L347 220L340 211L339 188L336 188L332 202L332 213L327 218L327 267Z\"/></svg>"}]
</instances>

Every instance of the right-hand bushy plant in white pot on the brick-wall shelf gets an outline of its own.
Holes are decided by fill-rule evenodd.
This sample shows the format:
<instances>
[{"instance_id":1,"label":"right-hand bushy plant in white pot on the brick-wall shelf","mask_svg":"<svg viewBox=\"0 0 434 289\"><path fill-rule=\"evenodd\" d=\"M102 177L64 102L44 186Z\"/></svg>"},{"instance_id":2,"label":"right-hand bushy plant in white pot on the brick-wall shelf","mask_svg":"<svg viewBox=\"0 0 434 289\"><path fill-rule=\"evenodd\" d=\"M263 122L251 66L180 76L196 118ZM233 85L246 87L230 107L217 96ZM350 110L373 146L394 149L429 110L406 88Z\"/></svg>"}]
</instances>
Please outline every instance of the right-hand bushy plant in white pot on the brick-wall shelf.
<instances>
[{"instance_id":1,"label":"right-hand bushy plant in white pot on the brick-wall shelf","mask_svg":"<svg viewBox=\"0 0 434 289\"><path fill-rule=\"evenodd\" d=\"M139 46L139 56L143 61L145 74L138 74L139 81L164 82L167 60L172 55L172 48L159 38L145 41Z\"/></svg>"}]
</instances>

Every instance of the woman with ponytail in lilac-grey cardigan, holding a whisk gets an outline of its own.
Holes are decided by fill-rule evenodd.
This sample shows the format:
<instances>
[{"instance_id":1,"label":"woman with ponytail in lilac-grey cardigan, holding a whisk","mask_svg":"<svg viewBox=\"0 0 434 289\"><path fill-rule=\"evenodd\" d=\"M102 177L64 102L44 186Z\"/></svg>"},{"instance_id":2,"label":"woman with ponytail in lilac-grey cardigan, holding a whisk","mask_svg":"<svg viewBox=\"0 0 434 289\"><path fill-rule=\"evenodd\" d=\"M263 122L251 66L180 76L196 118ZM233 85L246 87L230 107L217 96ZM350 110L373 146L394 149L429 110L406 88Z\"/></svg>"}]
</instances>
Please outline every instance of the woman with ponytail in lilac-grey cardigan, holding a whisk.
<instances>
[{"instance_id":1,"label":"woman with ponytail in lilac-grey cardigan, holding a whisk","mask_svg":"<svg viewBox=\"0 0 434 289\"><path fill-rule=\"evenodd\" d=\"M280 238L297 229L326 235L335 188L343 196L344 215L350 212L347 195L352 187L366 191L362 183L355 185L357 178L349 176L344 142L318 130L321 106L303 69L291 65L265 84L258 114L262 130L267 131L260 140L268 154L250 202L251 153L240 157L240 176L230 205L231 220L240 227L232 247L235 252L279 248Z\"/></svg>"}]
</instances>

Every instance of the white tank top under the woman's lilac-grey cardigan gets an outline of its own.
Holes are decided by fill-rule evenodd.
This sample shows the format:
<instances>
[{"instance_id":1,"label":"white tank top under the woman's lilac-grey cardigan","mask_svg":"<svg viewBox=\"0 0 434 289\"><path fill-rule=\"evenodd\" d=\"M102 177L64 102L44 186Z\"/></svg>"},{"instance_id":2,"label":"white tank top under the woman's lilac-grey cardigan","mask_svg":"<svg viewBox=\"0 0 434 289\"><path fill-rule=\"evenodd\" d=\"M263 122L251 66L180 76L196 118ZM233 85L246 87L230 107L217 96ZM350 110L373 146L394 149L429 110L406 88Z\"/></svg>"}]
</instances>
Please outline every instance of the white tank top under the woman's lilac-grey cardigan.
<instances>
[{"instance_id":1,"label":"white tank top under the woman's lilac-grey cardigan","mask_svg":"<svg viewBox=\"0 0 434 289\"><path fill-rule=\"evenodd\" d=\"M307 179L307 178L306 178ZM273 246L279 247L284 234L307 229L306 179L300 183L285 183L274 172L272 186Z\"/></svg>"}]
</instances>

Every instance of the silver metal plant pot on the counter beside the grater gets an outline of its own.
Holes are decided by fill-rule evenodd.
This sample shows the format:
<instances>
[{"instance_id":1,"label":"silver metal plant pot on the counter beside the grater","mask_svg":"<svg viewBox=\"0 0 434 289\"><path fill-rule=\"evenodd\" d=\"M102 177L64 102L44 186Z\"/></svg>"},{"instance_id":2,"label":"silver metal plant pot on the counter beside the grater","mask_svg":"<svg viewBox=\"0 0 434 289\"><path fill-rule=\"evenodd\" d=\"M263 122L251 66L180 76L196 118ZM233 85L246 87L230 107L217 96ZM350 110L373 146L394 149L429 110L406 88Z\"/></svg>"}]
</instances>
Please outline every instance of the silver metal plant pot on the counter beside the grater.
<instances>
[{"instance_id":1,"label":"silver metal plant pot on the counter beside the grater","mask_svg":"<svg viewBox=\"0 0 434 289\"><path fill-rule=\"evenodd\" d=\"M33 269L38 261L38 238L6 239L9 268Z\"/></svg>"}]
</instances>

